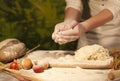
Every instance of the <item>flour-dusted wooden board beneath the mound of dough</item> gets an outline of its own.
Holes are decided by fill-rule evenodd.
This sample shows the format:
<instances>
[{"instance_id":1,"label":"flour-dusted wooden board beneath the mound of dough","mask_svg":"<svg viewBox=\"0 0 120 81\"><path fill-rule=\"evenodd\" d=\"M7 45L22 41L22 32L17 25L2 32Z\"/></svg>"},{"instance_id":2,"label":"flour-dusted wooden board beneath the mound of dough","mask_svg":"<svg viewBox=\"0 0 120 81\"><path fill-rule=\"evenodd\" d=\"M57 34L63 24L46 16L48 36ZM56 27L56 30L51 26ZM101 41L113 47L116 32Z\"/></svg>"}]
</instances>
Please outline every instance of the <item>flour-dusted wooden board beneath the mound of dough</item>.
<instances>
[{"instance_id":1,"label":"flour-dusted wooden board beneath the mound of dough","mask_svg":"<svg viewBox=\"0 0 120 81\"><path fill-rule=\"evenodd\" d=\"M53 50L53 51L45 51L38 50L34 51L28 55L28 58L32 59L32 61L47 61L49 62L51 67L66 67L66 68L74 68L81 67L87 69L107 69L110 68L111 59L107 59L104 61L85 61L85 60L75 60L74 59L74 51L62 51L62 50Z\"/></svg>"}]
</instances>

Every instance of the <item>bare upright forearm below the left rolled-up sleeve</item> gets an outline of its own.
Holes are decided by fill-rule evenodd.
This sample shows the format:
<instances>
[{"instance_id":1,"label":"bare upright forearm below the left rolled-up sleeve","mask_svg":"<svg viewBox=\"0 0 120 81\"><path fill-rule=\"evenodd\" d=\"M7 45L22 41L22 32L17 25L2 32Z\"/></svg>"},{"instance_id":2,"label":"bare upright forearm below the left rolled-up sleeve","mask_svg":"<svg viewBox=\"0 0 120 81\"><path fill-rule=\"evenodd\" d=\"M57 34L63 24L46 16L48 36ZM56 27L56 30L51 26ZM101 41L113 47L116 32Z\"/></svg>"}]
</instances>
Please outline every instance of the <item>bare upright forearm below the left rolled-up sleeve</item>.
<instances>
[{"instance_id":1,"label":"bare upright forearm below the left rolled-up sleeve","mask_svg":"<svg viewBox=\"0 0 120 81\"><path fill-rule=\"evenodd\" d=\"M76 10L74 8L67 8L65 11L65 19L64 21L71 21L76 20L77 22L80 21L81 13L79 10Z\"/></svg>"}]
</instances>

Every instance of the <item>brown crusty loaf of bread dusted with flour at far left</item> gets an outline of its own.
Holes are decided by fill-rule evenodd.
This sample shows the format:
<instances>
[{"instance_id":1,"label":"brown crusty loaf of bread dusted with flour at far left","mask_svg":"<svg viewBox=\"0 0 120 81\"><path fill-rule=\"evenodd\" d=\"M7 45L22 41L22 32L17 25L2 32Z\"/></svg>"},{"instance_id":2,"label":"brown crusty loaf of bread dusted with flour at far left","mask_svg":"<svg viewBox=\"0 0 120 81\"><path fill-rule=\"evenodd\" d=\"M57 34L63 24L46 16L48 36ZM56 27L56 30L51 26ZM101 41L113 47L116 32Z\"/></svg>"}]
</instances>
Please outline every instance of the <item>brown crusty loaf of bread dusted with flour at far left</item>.
<instances>
[{"instance_id":1,"label":"brown crusty loaf of bread dusted with flour at far left","mask_svg":"<svg viewBox=\"0 0 120 81\"><path fill-rule=\"evenodd\" d=\"M7 63L21 57L26 52L26 46L18 39L6 39L0 42L0 62Z\"/></svg>"}]
</instances>

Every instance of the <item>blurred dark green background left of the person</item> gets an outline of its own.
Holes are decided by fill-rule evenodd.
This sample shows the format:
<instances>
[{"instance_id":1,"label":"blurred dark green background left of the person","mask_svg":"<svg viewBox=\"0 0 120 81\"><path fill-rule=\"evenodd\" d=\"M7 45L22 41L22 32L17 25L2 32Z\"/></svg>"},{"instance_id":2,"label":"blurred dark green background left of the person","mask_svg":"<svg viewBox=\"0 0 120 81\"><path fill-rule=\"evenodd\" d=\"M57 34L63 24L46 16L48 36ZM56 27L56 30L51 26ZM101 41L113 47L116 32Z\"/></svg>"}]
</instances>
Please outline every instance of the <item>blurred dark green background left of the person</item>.
<instances>
[{"instance_id":1,"label":"blurred dark green background left of the person","mask_svg":"<svg viewBox=\"0 0 120 81\"><path fill-rule=\"evenodd\" d=\"M77 41L56 44L51 35L64 19L64 0L0 0L0 41L17 38L32 49L75 50Z\"/></svg>"}]
</instances>

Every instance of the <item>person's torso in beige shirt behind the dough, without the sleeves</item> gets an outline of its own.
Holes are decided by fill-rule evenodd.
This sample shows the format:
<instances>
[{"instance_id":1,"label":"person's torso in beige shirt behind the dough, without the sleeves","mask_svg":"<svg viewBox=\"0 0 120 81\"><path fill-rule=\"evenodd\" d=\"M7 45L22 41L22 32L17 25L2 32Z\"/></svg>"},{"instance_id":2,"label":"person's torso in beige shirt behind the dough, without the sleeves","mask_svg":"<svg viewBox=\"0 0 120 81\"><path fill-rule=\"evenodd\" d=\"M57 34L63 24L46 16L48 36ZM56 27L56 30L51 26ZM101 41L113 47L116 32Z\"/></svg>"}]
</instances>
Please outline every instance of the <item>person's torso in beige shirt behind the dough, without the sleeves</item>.
<instances>
[{"instance_id":1,"label":"person's torso in beige shirt behind the dough, without the sleeves","mask_svg":"<svg viewBox=\"0 0 120 81\"><path fill-rule=\"evenodd\" d=\"M120 0L89 0L91 16L94 16L101 10L108 8L109 5L107 4L116 3L116 1L120 3ZM81 36L78 48L86 44L95 43L108 49L120 48L120 13L118 13L117 17L112 21L87 32L86 37Z\"/></svg>"}]
</instances>

